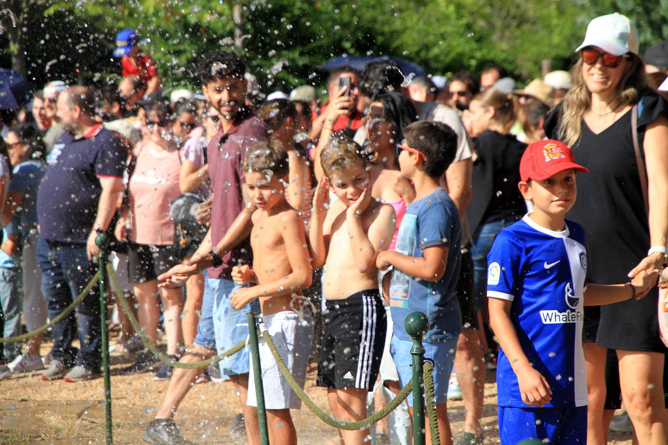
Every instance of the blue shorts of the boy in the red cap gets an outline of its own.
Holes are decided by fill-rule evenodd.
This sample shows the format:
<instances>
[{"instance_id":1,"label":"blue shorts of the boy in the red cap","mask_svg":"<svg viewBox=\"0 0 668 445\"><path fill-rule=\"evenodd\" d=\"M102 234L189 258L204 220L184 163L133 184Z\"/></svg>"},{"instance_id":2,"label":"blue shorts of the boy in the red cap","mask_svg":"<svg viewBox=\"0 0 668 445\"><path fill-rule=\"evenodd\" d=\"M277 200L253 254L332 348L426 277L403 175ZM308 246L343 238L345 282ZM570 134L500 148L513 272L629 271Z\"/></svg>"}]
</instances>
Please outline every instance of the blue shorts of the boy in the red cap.
<instances>
[{"instance_id":1,"label":"blue shorts of the boy in the red cap","mask_svg":"<svg viewBox=\"0 0 668 445\"><path fill-rule=\"evenodd\" d=\"M550 445L587 443L587 406L503 408L499 406L501 445L537 438Z\"/></svg>"}]
</instances>

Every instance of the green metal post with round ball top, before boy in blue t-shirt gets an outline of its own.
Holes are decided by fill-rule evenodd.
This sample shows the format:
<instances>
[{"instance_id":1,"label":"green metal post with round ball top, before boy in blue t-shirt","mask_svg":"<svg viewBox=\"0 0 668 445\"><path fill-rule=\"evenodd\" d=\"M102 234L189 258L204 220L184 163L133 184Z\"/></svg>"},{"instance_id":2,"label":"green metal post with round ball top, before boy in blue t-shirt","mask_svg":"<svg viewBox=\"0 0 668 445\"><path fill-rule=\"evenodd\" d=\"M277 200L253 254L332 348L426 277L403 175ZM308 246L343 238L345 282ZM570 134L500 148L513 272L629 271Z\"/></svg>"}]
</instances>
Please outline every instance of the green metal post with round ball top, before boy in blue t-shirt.
<instances>
[{"instance_id":1,"label":"green metal post with round ball top, before boy in blue t-shirt","mask_svg":"<svg viewBox=\"0 0 668 445\"><path fill-rule=\"evenodd\" d=\"M406 333L413 338L411 356L413 356L413 445L424 445L424 382L422 368L425 349L422 337L429 330L429 319L422 312L411 312L403 322Z\"/></svg>"}]
</instances>

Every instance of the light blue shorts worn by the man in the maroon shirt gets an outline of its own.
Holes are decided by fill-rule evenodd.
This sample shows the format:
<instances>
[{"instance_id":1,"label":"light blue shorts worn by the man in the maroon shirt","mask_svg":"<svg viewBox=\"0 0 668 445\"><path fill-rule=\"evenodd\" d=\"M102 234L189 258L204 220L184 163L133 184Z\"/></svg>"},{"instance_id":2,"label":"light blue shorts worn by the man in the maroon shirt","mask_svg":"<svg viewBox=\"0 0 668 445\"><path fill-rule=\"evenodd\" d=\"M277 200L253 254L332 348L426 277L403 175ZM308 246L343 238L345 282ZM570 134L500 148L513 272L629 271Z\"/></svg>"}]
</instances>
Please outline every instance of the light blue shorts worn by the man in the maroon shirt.
<instances>
[{"instance_id":1,"label":"light blue shorts worn by the man in the maroon shirt","mask_svg":"<svg viewBox=\"0 0 668 445\"><path fill-rule=\"evenodd\" d=\"M222 278L209 278L209 285L214 292L213 327L216 334L218 354L236 346L248 337L248 312L260 314L260 302L255 300L241 310L232 309L230 295L242 286ZM220 372L224 376L248 374L251 370L248 346L236 354L220 360Z\"/></svg>"}]
</instances>

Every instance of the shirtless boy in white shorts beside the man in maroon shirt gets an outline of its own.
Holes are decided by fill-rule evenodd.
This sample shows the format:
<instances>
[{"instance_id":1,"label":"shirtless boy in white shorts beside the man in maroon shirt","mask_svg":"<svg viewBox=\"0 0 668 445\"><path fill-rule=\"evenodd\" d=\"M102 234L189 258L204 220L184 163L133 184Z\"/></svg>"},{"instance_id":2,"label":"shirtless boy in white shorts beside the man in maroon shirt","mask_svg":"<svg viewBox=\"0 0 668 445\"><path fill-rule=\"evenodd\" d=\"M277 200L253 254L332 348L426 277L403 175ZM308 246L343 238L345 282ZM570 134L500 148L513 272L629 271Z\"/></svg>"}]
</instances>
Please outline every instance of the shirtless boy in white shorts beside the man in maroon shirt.
<instances>
[{"instance_id":1,"label":"shirtless boy in white shorts beside the man in maroon shirt","mask_svg":"<svg viewBox=\"0 0 668 445\"><path fill-rule=\"evenodd\" d=\"M234 266L232 279L236 285L257 283L257 286L235 290L230 304L240 310L259 300L267 330L291 374L303 388L313 323L308 307L300 307L303 298L295 294L311 286L313 270L303 220L285 200L287 153L260 145L246 155L243 169L248 193L257 206L251 232L253 269L247 265ZM290 410L301 408L301 400L281 375L263 338L260 338L260 355L269 441L297 444ZM257 406L252 366L246 404ZM260 439L254 442L259 443Z\"/></svg>"}]
</instances>

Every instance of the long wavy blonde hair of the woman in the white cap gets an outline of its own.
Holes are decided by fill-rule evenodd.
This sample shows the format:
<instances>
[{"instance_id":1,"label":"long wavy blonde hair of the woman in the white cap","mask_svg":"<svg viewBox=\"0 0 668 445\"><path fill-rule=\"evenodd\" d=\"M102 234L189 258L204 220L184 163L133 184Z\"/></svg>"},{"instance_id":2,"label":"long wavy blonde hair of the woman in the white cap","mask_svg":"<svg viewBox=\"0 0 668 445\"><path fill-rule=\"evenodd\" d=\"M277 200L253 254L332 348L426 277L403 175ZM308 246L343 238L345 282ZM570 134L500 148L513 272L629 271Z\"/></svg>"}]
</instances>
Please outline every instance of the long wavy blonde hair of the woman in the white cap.
<instances>
[{"instance_id":1,"label":"long wavy blonde hair of the woman in the white cap","mask_svg":"<svg viewBox=\"0 0 668 445\"><path fill-rule=\"evenodd\" d=\"M619 85L617 85L617 97L620 105L634 105L639 101L639 93L647 88L647 77L645 75L645 63L635 55L629 53L627 69L624 71ZM570 70L573 78L573 87L566 93L562 100L563 113L557 128L558 137L566 145L572 147L582 136L582 118L591 107L591 92L587 89L585 80L582 79L582 59Z\"/></svg>"}]
</instances>

